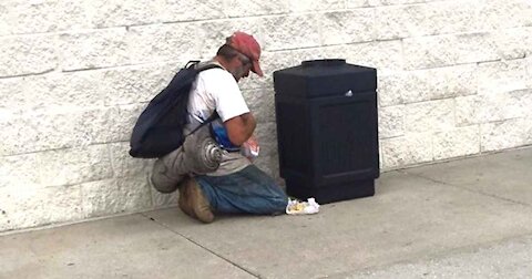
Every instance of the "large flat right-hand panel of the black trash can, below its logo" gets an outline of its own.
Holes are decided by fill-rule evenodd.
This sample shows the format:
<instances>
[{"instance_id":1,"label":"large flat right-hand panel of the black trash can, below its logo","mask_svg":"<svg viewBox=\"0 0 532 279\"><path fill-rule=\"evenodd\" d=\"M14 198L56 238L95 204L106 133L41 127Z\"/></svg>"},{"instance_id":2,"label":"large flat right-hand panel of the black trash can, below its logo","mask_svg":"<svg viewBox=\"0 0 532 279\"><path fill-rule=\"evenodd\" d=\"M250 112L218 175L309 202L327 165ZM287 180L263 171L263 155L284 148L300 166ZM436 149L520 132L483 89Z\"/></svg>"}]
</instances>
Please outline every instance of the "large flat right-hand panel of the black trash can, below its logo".
<instances>
[{"instance_id":1,"label":"large flat right-hand panel of the black trash can, below its logo","mask_svg":"<svg viewBox=\"0 0 532 279\"><path fill-rule=\"evenodd\" d=\"M377 110L372 92L310 100L319 185L375 178L379 172Z\"/></svg>"}]
</instances>

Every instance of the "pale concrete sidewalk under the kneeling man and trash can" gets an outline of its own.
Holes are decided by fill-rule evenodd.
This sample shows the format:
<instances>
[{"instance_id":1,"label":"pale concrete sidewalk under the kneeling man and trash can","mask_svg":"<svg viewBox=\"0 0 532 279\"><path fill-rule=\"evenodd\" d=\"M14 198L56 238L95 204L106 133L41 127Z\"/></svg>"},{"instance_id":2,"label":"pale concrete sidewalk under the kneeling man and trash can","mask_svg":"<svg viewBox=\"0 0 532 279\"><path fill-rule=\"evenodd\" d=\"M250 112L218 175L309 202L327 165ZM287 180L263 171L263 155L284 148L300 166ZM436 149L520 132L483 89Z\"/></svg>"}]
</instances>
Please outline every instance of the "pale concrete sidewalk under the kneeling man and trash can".
<instances>
[{"instance_id":1,"label":"pale concrete sidewalk under the kneeling man and trash can","mask_svg":"<svg viewBox=\"0 0 532 279\"><path fill-rule=\"evenodd\" d=\"M530 278L532 147L389 172L313 216L177 208L0 236L0 278Z\"/></svg>"}]
</instances>

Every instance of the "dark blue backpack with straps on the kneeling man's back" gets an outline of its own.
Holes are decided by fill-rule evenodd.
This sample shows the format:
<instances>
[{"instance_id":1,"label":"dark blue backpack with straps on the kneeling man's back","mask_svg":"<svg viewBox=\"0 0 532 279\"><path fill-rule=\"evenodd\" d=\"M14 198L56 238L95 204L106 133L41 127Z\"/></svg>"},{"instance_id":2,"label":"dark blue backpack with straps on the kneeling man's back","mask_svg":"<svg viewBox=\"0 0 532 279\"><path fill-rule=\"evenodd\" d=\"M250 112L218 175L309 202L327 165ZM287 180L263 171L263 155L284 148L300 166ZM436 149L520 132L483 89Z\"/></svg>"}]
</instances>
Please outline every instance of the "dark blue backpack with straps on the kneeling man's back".
<instances>
[{"instance_id":1,"label":"dark blue backpack with straps on the kneeling man's back","mask_svg":"<svg viewBox=\"0 0 532 279\"><path fill-rule=\"evenodd\" d=\"M216 64L198 66L190 61L144 108L133 127L130 155L136 158L157 158L178 148L185 141L183 127L187 118L188 95L201 71L221 68ZM190 134L218 117L216 112Z\"/></svg>"}]
</instances>

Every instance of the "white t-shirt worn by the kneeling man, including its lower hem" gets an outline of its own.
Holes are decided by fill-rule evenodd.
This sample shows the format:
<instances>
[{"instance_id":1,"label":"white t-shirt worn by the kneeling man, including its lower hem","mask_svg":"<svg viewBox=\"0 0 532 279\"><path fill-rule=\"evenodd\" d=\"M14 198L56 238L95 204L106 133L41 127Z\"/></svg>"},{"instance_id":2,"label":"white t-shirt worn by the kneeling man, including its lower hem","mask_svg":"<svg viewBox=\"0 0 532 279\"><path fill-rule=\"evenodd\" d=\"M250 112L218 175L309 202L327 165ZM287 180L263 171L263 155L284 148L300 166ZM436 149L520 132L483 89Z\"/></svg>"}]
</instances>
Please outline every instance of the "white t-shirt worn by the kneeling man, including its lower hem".
<instances>
[{"instance_id":1,"label":"white t-shirt worn by the kneeling man, including its lower hem","mask_svg":"<svg viewBox=\"0 0 532 279\"><path fill-rule=\"evenodd\" d=\"M215 128L223 128L224 132L225 126L222 122L249 112L235 78L226 70L219 68L200 72L196 81L193 83L188 99L190 124L185 127L185 131L200 125L200 123L213 114L214 110L218 113L219 118L214 121L212 125ZM226 151L218 169L208 175L232 174L249 164L249 159L244 157L238 151Z\"/></svg>"}]
</instances>

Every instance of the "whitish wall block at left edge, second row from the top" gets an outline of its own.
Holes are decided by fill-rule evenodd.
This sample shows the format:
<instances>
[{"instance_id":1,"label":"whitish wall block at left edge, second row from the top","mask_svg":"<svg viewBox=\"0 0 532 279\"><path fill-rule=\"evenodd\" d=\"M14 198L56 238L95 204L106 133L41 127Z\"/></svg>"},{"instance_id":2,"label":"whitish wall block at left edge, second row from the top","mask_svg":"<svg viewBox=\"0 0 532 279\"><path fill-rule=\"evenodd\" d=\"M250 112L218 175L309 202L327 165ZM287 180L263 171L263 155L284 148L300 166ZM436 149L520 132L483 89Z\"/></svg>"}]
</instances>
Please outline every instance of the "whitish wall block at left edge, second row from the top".
<instances>
[{"instance_id":1,"label":"whitish wall block at left edge, second row from the top","mask_svg":"<svg viewBox=\"0 0 532 279\"><path fill-rule=\"evenodd\" d=\"M35 74L58 66L54 35L0 38L0 76Z\"/></svg>"}]
</instances>

